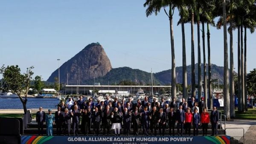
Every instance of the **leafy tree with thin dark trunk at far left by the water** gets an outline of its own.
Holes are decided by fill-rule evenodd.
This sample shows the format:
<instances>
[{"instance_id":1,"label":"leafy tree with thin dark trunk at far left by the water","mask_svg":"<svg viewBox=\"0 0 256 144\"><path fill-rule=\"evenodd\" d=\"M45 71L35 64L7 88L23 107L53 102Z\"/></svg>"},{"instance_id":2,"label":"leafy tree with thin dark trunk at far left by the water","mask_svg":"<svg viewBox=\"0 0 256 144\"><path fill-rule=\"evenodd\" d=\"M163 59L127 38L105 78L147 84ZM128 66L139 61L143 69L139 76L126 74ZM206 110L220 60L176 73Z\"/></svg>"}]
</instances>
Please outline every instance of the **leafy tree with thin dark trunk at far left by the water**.
<instances>
[{"instance_id":1,"label":"leafy tree with thin dark trunk at far left by the water","mask_svg":"<svg viewBox=\"0 0 256 144\"><path fill-rule=\"evenodd\" d=\"M29 86L31 82L31 76L34 74L30 66L27 68L26 73L21 74L19 66L2 66L0 73L3 74L3 90L10 91L19 96L20 101L23 105L24 114L27 112L26 102L27 95L29 92ZM24 98L22 97L24 95Z\"/></svg>"}]
</instances>

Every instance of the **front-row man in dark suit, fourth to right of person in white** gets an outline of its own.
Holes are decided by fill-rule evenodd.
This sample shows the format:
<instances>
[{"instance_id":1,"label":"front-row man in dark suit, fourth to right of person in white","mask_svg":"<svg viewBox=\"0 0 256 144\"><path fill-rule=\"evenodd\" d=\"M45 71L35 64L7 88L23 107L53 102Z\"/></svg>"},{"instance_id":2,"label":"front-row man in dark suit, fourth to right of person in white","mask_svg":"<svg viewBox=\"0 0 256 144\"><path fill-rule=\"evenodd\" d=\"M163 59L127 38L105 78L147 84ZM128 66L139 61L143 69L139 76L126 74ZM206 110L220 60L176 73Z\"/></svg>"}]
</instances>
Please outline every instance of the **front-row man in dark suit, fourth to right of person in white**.
<instances>
[{"instance_id":1,"label":"front-row man in dark suit, fourth to right of person in white","mask_svg":"<svg viewBox=\"0 0 256 144\"><path fill-rule=\"evenodd\" d=\"M150 112L149 119L150 119L151 136L153 133L153 129L154 129L154 135L157 135L157 123L159 120L159 112L157 112L156 107L153 107L152 111Z\"/></svg>"}]
</instances>

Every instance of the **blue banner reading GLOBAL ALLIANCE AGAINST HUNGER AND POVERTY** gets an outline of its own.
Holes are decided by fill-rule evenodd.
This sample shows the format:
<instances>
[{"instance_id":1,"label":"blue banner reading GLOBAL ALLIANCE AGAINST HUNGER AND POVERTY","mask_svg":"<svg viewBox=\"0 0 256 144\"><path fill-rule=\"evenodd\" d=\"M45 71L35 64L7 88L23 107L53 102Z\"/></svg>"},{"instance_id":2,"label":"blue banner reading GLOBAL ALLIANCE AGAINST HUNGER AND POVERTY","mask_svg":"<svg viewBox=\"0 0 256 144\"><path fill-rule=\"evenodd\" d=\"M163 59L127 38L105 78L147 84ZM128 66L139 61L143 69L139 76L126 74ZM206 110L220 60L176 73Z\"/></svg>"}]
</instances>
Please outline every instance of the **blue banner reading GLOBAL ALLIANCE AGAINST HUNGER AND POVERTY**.
<instances>
[{"instance_id":1,"label":"blue banner reading GLOBAL ALLIANCE AGAINST HUNGER AND POVERTY","mask_svg":"<svg viewBox=\"0 0 256 144\"><path fill-rule=\"evenodd\" d=\"M230 144L229 136L36 136L22 135L21 144Z\"/></svg>"}]
</instances>

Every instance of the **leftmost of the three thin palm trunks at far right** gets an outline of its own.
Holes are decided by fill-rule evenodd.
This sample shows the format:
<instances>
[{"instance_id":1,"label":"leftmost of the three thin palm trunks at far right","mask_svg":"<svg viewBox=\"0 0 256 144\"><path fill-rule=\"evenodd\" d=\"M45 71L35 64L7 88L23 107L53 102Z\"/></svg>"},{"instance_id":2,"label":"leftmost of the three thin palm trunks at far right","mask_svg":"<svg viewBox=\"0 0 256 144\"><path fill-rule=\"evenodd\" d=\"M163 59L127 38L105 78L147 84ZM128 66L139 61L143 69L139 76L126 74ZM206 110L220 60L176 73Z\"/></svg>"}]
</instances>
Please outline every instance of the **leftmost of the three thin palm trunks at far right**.
<instances>
[{"instance_id":1,"label":"leftmost of the three thin palm trunks at far right","mask_svg":"<svg viewBox=\"0 0 256 144\"><path fill-rule=\"evenodd\" d=\"M237 29L237 64L238 64L238 110L241 112L243 110L243 104L242 104L242 95L241 95L241 49L240 49L240 26L238 26Z\"/></svg>"}]
</instances>

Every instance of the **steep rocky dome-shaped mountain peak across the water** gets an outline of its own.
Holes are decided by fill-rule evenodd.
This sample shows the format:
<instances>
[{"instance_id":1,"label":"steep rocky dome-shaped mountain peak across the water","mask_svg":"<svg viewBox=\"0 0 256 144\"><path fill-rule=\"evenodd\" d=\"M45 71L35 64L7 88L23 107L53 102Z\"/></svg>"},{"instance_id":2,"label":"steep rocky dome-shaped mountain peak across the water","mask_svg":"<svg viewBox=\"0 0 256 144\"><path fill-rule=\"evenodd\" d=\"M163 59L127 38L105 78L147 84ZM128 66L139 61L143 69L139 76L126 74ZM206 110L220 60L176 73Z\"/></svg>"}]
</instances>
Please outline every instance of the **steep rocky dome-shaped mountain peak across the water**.
<instances>
[{"instance_id":1,"label":"steep rocky dome-shaped mountain peak across the water","mask_svg":"<svg viewBox=\"0 0 256 144\"><path fill-rule=\"evenodd\" d=\"M88 79L105 76L112 69L103 47L99 43L91 43L82 49L73 58L60 66L60 81L68 84L83 84ZM58 77L56 69L47 81L54 82Z\"/></svg>"}]
</instances>

